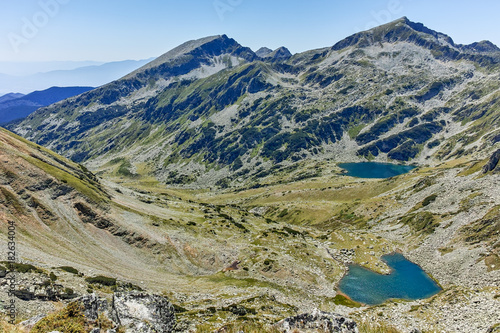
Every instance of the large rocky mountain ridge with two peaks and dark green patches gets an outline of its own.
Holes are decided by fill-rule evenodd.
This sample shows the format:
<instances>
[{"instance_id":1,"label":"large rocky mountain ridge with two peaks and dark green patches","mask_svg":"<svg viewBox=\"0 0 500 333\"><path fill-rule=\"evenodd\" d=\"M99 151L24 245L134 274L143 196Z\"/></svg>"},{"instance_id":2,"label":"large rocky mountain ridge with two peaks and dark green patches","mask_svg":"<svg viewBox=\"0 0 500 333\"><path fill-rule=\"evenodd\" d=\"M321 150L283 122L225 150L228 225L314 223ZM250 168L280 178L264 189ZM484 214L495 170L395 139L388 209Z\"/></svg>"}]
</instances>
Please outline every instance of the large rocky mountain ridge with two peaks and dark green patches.
<instances>
[{"instance_id":1,"label":"large rocky mountain ridge with two peaks and dark green patches","mask_svg":"<svg viewBox=\"0 0 500 333\"><path fill-rule=\"evenodd\" d=\"M231 184L309 158L438 162L499 141L499 61L490 42L455 44L406 18L295 55L213 36L10 129L174 184Z\"/></svg>"}]
</instances>

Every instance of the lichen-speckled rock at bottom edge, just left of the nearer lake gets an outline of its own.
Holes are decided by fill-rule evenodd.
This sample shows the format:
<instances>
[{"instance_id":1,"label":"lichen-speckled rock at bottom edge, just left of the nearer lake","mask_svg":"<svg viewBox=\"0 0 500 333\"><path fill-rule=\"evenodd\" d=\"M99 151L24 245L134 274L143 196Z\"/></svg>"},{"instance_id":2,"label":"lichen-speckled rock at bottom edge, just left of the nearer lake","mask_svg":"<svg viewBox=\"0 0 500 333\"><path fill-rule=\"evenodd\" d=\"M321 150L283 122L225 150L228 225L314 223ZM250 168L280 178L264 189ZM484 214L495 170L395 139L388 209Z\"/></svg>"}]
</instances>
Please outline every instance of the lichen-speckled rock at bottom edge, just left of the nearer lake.
<instances>
[{"instance_id":1,"label":"lichen-speckled rock at bottom edge, just left of the nearer lake","mask_svg":"<svg viewBox=\"0 0 500 333\"><path fill-rule=\"evenodd\" d=\"M276 324L282 332L294 330L321 330L322 332L358 333L356 323L335 313L314 310L298 316L285 318Z\"/></svg>"}]
</instances>

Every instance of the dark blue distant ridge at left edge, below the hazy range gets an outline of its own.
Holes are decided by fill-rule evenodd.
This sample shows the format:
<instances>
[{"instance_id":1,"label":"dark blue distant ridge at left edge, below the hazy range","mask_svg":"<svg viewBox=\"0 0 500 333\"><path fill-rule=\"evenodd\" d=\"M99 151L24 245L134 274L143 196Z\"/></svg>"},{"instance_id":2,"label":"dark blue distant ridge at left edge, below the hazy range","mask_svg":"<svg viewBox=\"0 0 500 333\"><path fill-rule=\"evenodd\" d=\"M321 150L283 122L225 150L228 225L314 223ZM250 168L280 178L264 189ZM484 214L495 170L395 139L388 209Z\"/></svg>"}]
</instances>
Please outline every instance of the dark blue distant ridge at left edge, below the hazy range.
<instances>
[{"instance_id":1,"label":"dark blue distant ridge at left edge, below the hazy range","mask_svg":"<svg viewBox=\"0 0 500 333\"><path fill-rule=\"evenodd\" d=\"M28 95L10 93L0 97L0 125L22 119L42 106L59 102L94 89L93 87L52 87Z\"/></svg>"}]
</instances>

